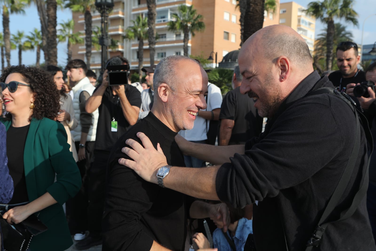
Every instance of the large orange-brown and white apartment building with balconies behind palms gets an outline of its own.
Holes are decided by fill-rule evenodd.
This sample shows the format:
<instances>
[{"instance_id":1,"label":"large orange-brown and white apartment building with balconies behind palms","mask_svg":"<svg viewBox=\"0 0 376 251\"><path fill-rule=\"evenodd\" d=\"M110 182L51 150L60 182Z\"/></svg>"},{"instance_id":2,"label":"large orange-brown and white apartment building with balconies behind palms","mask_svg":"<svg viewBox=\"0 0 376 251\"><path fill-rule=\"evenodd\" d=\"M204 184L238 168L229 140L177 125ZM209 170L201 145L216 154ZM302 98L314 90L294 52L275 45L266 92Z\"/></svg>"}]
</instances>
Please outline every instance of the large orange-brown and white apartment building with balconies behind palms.
<instances>
[{"instance_id":1,"label":"large orange-brown and white apartment building with balconies behind palms","mask_svg":"<svg viewBox=\"0 0 376 251\"><path fill-rule=\"evenodd\" d=\"M279 3L279 0L277 0ZM169 55L183 55L183 32L168 30L167 23L172 19L172 14L177 12L179 5L194 6L198 14L203 16L205 23L203 32L190 35L188 41L189 55L202 55L208 58L211 52L217 53L217 66L223 56L240 48L240 11L236 8L236 0L156 0L156 32L158 40L155 46L155 64ZM147 16L146 0L114 0L114 10L109 14L109 35L118 41L118 47L109 50L109 56L122 55L131 64L131 69L138 67L138 41L123 39L124 29L132 26L132 21L138 15ZM275 13L265 11L264 26L279 22L279 4ZM83 14L73 13L76 23L74 32L84 33ZM100 15L92 12L93 29L100 27ZM144 41L144 66L150 65L148 41ZM215 67L215 55L211 67ZM85 45L75 45L73 58L85 59ZM100 50L92 49L91 68L100 68Z\"/></svg>"}]
</instances>

